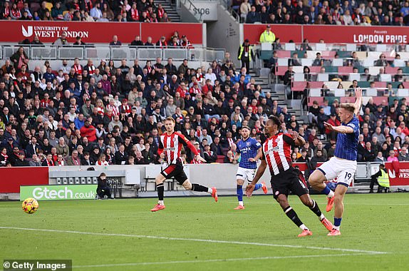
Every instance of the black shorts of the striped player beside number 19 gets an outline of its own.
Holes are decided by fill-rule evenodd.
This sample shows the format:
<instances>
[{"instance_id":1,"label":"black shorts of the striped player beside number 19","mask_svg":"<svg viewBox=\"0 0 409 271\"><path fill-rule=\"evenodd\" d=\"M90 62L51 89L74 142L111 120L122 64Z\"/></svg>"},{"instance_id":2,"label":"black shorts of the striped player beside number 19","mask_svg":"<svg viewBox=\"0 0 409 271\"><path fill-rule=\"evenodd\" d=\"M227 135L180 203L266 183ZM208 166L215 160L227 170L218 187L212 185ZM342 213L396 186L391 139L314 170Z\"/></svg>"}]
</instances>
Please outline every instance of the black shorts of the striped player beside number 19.
<instances>
[{"instance_id":1,"label":"black shorts of the striped player beside number 19","mask_svg":"<svg viewBox=\"0 0 409 271\"><path fill-rule=\"evenodd\" d=\"M279 195L289 195L291 191L293 194L301 196L309 193L305 183L299 178L300 171L295 168L274 175L271 177L271 188L273 188L274 198L277 199Z\"/></svg>"}]
</instances>

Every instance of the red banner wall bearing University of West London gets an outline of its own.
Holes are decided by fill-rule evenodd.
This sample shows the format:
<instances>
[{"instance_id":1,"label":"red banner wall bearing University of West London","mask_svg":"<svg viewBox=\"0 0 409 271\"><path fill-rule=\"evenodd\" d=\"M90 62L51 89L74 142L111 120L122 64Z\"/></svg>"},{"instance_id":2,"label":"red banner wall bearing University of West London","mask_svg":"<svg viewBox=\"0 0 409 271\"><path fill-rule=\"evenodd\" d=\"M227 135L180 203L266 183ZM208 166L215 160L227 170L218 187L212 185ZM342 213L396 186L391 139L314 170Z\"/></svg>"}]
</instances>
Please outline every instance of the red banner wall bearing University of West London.
<instances>
[{"instance_id":1,"label":"red banner wall bearing University of West London","mask_svg":"<svg viewBox=\"0 0 409 271\"><path fill-rule=\"evenodd\" d=\"M120 22L76 22L76 21L2 21L0 42L18 43L24 39L30 41L38 36L43 43L56 41L61 33L66 31L68 42L76 41L81 36L86 44L108 44L114 35L123 44L129 44L135 36L140 35L143 41L151 36L158 41L160 36L170 39L175 31L186 34L192 44L206 44L203 40L202 24L183 23L120 23Z\"/></svg>"}]
</instances>

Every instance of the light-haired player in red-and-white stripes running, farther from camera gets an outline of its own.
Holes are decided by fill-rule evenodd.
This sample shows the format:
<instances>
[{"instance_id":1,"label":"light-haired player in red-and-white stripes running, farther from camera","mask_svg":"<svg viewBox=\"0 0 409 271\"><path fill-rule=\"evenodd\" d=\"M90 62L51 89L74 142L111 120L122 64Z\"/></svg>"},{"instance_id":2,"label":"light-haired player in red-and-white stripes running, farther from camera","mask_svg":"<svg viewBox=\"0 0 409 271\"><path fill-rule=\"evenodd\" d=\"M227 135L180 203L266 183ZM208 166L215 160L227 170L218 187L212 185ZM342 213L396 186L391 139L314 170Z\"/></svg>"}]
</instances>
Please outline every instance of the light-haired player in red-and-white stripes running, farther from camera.
<instances>
[{"instance_id":1,"label":"light-haired player in red-and-white stripes running, farther from camera","mask_svg":"<svg viewBox=\"0 0 409 271\"><path fill-rule=\"evenodd\" d=\"M202 162L206 162L200 154L197 152L195 146L190 143L185 136L181 133L175 132L175 120L172 117L167 117L165 119L165 128L166 133L163 133L160 136L159 148L157 150L157 154L160 155L160 158L165 159L167 161L167 168L162 170L162 172L157 175L155 178L156 188L157 188L157 197L159 198L157 205L152 208L152 212L156 212L158 210L165 209L165 205L163 203L163 193L165 187L163 182L166 179L175 178L177 183L182 185L186 190L192 190L197 192L207 192L212 195L214 200L217 201L217 189L216 188L207 188L203 185L197 183L190 183L189 179L187 178L185 171L183 171L183 164L182 159L180 158L180 151L182 147L190 148L192 153L195 154L195 158L197 160L201 160Z\"/></svg>"}]
</instances>

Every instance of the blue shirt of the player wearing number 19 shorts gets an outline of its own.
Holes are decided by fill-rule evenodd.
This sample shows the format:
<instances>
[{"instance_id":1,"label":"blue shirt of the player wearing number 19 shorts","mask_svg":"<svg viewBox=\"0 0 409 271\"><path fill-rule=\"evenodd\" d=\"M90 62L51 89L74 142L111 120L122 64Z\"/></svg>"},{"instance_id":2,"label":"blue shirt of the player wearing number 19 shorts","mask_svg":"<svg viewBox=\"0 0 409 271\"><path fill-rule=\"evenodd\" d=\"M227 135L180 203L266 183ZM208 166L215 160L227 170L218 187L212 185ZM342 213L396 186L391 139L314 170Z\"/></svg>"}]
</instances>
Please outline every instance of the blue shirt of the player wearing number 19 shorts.
<instances>
[{"instance_id":1,"label":"blue shirt of the player wearing number 19 shorts","mask_svg":"<svg viewBox=\"0 0 409 271\"><path fill-rule=\"evenodd\" d=\"M358 118L354 114L350 122L341 123L341 125L353 128L353 133L338 133L334 155L338 158L356 161L359 142Z\"/></svg>"}]
</instances>

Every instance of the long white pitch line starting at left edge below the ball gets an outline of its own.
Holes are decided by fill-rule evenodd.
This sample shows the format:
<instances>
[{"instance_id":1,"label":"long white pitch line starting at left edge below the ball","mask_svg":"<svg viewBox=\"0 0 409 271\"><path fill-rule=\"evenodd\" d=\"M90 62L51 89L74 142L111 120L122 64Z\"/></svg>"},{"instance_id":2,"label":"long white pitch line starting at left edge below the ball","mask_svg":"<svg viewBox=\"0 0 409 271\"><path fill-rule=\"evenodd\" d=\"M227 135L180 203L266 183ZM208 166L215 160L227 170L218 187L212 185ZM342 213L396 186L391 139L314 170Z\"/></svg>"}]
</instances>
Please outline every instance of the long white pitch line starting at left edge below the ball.
<instances>
[{"instance_id":1,"label":"long white pitch line starting at left edge below the ball","mask_svg":"<svg viewBox=\"0 0 409 271\"><path fill-rule=\"evenodd\" d=\"M257 245L257 246L262 246L262 247L308 248L308 249L311 249L311 250L331 250L331 251L335 250L335 251L342 251L342 252L356 252L356 253L366 253L366 254L388 254L388 252L382 252L382 251L352 250L352 249L337 248L337 247L310 247L310 246L304 246L304 245L279 245L279 244L270 244L270 243L264 243L264 242L239 242L239 241L211 240L211 239L162 237L162 236L153 236L153 235L130 235L130 234L123 234L123 233L78 232L76 230L33 229L33 228L27 228L27 227L0 227L0 229L5 229L5 230L32 230L32 231L37 231L37 232L62 232L62 233L73 233L73 234L78 234L78 235L137 237L137 238L160 239L160 240L190 241L190 242L212 242L212 243L232 244L232 245Z\"/></svg>"}]
</instances>

